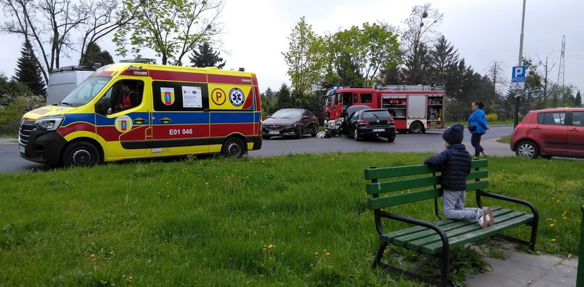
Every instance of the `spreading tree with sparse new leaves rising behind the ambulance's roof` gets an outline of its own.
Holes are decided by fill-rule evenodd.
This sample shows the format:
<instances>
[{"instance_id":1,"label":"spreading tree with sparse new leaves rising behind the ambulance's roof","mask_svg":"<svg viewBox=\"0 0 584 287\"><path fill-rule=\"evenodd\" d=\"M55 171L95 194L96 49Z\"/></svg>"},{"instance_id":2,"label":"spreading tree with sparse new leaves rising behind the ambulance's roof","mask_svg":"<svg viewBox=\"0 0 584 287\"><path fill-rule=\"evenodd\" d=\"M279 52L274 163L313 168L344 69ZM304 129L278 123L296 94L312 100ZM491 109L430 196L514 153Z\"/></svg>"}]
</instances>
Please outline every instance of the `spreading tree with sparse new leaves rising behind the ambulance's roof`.
<instances>
[{"instance_id":1,"label":"spreading tree with sparse new leaves rising behind the ambulance's roof","mask_svg":"<svg viewBox=\"0 0 584 287\"><path fill-rule=\"evenodd\" d=\"M218 18L223 0L143 0L138 6L140 21L120 27L113 37L117 53L138 55L143 48L154 50L162 64L182 65L182 58L220 33Z\"/></svg>"}]
</instances>

